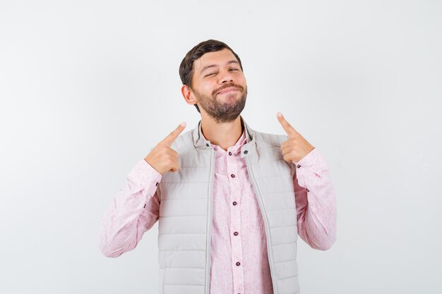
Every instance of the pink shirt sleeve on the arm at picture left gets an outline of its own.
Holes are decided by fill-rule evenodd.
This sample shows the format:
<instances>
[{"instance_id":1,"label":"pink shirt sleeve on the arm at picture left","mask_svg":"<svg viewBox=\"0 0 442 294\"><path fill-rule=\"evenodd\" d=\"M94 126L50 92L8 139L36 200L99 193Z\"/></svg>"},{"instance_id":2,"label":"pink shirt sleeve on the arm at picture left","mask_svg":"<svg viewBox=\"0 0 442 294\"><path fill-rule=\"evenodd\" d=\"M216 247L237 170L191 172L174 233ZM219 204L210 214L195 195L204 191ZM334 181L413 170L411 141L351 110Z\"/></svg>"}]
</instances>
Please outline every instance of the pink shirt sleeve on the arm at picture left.
<instances>
[{"instance_id":1,"label":"pink shirt sleeve on the arm at picture left","mask_svg":"<svg viewBox=\"0 0 442 294\"><path fill-rule=\"evenodd\" d=\"M145 159L126 177L126 184L115 195L102 217L99 248L106 257L119 257L133 250L159 219L157 185L162 178Z\"/></svg>"}]
</instances>

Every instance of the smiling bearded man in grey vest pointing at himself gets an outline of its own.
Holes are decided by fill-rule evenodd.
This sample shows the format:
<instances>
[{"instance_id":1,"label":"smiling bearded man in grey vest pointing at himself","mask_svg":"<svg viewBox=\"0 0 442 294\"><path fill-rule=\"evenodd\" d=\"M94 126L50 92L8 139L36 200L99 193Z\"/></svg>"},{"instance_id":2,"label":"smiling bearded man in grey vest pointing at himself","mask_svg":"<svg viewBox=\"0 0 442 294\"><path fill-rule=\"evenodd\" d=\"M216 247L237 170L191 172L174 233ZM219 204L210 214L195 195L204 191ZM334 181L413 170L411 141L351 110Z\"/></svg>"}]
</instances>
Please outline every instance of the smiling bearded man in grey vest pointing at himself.
<instances>
[{"instance_id":1,"label":"smiling bearded man in grey vest pointing at himself","mask_svg":"<svg viewBox=\"0 0 442 294\"><path fill-rule=\"evenodd\" d=\"M183 135L179 125L130 171L104 215L100 250L133 250L159 220L160 293L299 293L298 233L318 250L336 240L325 159L280 113L287 135L247 125L246 78L227 44L196 45L179 74L201 121Z\"/></svg>"}]
</instances>

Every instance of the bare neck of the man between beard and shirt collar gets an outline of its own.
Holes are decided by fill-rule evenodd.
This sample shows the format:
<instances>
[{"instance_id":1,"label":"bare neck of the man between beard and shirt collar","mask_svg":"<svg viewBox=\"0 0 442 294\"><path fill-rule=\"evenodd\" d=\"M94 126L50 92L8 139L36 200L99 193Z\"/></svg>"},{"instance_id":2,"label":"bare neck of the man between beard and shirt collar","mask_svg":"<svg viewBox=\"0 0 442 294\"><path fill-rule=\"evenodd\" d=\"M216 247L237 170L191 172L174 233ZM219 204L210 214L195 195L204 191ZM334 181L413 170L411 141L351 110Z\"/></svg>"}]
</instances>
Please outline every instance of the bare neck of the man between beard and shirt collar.
<instances>
[{"instance_id":1,"label":"bare neck of the man between beard and shirt collar","mask_svg":"<svg viewBox=\"0 0 442 294\"><path fill-rule=\"evenodd\" d=\"M201 114L201 131L210 143L227 151L227 148L238 142L244 130L241 124L241 116L228 123L217 123L207 114Z\"/></svg>"}]
</instances>

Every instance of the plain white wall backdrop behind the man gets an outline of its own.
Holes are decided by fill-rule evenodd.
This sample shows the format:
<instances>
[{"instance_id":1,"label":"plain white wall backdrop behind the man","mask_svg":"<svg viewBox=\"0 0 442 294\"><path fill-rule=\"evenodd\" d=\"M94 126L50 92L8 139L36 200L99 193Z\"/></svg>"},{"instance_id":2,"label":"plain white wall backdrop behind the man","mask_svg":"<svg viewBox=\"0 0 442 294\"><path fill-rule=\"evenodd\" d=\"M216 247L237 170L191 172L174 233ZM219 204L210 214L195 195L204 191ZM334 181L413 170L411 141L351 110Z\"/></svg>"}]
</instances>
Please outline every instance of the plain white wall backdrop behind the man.
<instances>
[{"instance_id":1,"label":"plain white wall backdrop behind the man","mask_svg":"<svg viewBox=\"0 0 442 294\"><path fill-rule=\"evenodd\" d=\"M118 258L98 229L181 121L179 63L239 54L251 128L277 111L328 161L338 240L299 239L301 293L442 293L442 2L0 1L0 293L157 293L157 223ZM254 294L254 293L246 293Z\"/></svg>"}]
</instances>

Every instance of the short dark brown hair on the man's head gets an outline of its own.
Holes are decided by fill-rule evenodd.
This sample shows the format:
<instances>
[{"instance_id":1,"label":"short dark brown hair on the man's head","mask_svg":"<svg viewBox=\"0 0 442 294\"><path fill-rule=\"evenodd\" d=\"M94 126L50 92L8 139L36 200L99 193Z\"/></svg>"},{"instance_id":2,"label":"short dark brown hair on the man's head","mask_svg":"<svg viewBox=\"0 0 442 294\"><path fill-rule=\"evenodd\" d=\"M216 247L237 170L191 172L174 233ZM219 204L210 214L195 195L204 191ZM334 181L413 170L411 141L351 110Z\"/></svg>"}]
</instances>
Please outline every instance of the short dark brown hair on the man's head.
<instances>
[{"instance_id":1,"label":"short dark brown hair on the man's head","mask_svg":"<svg viewBox=\"0 0 442 294\"><path fill-rule=\"evenodd\" d=\"M187 52L186 56L184 56L184 59L181 61L181 64L179 65L179 78L181 78L181 82L183 82L183 85L187 85L188 87L192 88L193 61L196 61L196 59L199 59L201 56L208 52L221 51L225 48L229 49L232 52L232 54L239 62L239 67L241 68L241 71L243 71L241 59L239 59L239 56L232 50L232 48L221 41L208 39L207 41L203 41L193 47L189 52ZM198 105L194 105L196 107L196 110L201 113Z\"/></svg>"}]
</instances>

